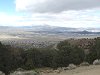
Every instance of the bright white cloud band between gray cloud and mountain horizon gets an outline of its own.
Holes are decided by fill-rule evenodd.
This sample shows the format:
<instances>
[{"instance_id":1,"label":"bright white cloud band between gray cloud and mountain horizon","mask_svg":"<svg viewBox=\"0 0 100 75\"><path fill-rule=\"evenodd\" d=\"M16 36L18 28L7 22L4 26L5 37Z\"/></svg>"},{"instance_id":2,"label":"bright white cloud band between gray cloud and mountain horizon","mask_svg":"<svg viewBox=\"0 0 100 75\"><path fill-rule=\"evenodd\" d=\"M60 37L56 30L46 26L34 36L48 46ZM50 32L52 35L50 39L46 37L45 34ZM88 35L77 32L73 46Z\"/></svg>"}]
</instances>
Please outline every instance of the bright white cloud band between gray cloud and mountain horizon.
<instances>
[{"instance_id":1,"label":"bright white cloud band between gray cloud and mountain horizon","mask_svg":"<svg viewBox=\"0 0 100 75\"><path fill-rule=\"evenodd\" d=\"M51 25L62 27L100 27L99 9L66 11L62 13L34 13L21 16L0 15L0 25L30 26Z\"/></svg>"}]
</instances>

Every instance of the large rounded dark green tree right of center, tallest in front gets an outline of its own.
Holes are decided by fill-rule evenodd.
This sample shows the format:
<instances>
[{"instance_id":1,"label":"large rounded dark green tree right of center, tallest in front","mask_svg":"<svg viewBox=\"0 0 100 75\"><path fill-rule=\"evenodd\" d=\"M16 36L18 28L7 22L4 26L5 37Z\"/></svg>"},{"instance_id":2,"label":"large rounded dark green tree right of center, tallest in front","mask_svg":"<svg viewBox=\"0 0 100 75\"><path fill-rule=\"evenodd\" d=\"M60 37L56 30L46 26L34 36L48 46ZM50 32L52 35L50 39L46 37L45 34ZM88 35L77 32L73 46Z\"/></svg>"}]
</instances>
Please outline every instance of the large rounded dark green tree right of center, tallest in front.
<instances>
[{"instance_id":1,"label":"large rounded dark green tree right of center, tallest in front","mask_svg":"<svg viewBox=\"0 0 100 75\"><path fill-rule=\"evenodd\" d=\"M70 63L80 64L84 61L84 51L77 46L70 45L67 41L58 44L58 65L68 66Z\"/></svg>"}]
</instances>

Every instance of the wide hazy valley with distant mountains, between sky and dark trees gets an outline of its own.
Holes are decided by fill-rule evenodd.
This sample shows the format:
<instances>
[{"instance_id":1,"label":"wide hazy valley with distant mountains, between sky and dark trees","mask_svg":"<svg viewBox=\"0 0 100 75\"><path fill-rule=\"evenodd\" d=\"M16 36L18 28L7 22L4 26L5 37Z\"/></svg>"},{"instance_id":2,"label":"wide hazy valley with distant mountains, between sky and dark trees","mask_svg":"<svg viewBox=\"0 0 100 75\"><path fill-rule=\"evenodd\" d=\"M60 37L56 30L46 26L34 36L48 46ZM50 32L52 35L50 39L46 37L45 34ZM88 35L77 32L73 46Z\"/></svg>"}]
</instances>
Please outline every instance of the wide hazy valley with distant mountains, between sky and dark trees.
<instances>
[{"instance_id":1,"label":"wide hazy valley with distant mountains, between sky and dark trees","mask_svg":"<svg viewBox=\"0 0 100 75\"><path fill-rule=\"evenodd\" d=\"M100 36L99 28L66 28L49 25L0 26L0 41L16 47L48 47L69 38L95 38Z\"/></svg>"}]
</instances>

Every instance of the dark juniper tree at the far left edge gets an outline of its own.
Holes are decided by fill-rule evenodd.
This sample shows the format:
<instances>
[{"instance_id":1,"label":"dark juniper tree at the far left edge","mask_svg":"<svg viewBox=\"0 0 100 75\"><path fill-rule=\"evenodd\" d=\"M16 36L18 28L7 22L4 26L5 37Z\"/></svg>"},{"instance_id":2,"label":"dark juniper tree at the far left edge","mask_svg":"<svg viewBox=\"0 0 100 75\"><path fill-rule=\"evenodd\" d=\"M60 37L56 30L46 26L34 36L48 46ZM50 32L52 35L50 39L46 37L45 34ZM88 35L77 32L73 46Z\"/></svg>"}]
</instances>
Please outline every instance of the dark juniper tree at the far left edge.
<instances>
[{"instance_id":1,"label":"dark juniper tree at the far left edge","mask_svg":"<svg viewBox=\"0 0 100 75\"><path fill-rule=\"evenodd\" d=\"M9 75L14 70L17 64L14 64L11 51L8 46L0 43L0 71L4 72L5 75Z\"/></svg>"}]
</instances>

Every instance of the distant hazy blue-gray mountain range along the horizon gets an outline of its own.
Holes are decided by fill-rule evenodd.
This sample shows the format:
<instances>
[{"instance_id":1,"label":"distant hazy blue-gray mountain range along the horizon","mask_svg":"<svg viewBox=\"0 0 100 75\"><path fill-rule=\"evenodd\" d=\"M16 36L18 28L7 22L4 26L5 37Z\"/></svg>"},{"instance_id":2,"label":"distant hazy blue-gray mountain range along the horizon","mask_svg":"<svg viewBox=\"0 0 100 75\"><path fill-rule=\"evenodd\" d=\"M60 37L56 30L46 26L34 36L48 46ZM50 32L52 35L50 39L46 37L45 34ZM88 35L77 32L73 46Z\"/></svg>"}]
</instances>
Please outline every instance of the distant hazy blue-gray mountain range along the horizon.
<instances>
[{"instance_id":1,"label":"distant hazy blue-gray mountain range along the horizon","mask_svg":"<svg viewBox=\"0 0 100 75\"><path fill-rule=\"evenodd\" d=\"M0 34L11 35L33 35L33 34L55 34L55 35L100 35L100 28L69 28L50 25L32 26L0 26Z\"/></svg>"}]
</instances>

